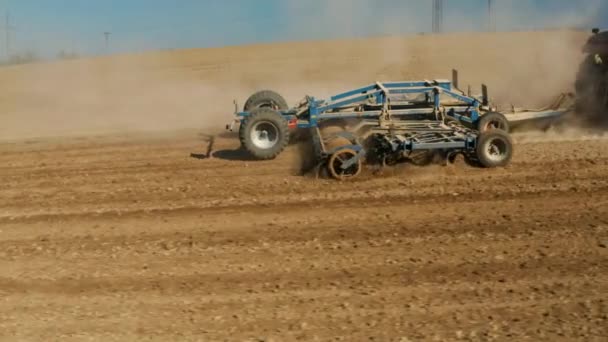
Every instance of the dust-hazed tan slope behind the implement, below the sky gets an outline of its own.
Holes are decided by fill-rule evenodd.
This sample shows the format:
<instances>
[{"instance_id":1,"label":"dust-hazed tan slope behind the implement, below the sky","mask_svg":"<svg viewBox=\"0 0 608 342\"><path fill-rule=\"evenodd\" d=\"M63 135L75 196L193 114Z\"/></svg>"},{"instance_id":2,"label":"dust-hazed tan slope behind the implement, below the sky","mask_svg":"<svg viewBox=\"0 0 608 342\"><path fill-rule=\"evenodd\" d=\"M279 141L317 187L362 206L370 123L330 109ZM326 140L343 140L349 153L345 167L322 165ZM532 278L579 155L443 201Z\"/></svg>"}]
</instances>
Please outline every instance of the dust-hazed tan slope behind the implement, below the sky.
<instances>
[{"instance_id":1,"label":"dust-hazed tan slope behind the implement, below the sky","mask_svg":"<svg viewBox=\"0 0 608 342\"><path fill-rule=\"evenodd\" d=\"M260 88L293 103L382 80L449 78L500 103L569 91L588 34L413 35L125 55L0 69L0 138L221 129L233 99Z\"/></svg>"}]
</instances>

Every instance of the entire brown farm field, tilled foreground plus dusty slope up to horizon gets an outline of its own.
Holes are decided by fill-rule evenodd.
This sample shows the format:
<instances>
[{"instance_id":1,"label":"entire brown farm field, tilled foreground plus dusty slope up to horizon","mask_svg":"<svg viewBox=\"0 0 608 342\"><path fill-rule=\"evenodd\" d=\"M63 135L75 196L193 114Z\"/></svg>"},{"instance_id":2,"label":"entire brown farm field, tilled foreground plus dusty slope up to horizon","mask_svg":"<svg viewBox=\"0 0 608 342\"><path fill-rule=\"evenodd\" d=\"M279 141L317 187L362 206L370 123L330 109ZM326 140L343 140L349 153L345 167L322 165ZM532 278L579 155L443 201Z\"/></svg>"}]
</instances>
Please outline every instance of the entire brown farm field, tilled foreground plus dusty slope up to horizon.
<instances>
[{"instance_id":1,"label":"entire brown farm field, tilled foreground plus dusty slope up to horizon","mask_svg":"<svg viewBox=\"0 0 608 342\"><path fill-rule=\"evenodd\" d=\"M504 169L341 183L301 175L298 145L253 161L222 132L262 87L297 101L452 67L540 105L586 38L464 36L500 49L415 36L0 69L0 339L605 341L608 134L518 132Z\"/></svg>"}]
</instances>

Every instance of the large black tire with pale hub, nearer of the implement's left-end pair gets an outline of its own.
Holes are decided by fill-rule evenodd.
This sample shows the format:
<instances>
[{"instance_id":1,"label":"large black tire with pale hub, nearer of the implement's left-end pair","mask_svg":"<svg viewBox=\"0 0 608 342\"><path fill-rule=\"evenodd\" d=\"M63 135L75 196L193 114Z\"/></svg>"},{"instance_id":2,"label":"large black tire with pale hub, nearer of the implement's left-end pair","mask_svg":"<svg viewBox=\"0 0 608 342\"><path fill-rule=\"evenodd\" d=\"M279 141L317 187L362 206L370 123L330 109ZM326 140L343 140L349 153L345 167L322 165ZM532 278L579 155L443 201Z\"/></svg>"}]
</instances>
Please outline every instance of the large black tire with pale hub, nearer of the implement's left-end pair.
<instances>
[{"instance_id":1,"label":"large black tire with pale hub, nearer of the implement's left-end pair","mask_svg":"<svg viewBox=\"0 0 608 342\"><path fill-rule=\"evenodd\" d=\"M261 160L276 158L290 140L287 120L280 113L265 107L251 112L242 132L239 132L241 136L243 147Z\"/></svg>"}]
</instances>

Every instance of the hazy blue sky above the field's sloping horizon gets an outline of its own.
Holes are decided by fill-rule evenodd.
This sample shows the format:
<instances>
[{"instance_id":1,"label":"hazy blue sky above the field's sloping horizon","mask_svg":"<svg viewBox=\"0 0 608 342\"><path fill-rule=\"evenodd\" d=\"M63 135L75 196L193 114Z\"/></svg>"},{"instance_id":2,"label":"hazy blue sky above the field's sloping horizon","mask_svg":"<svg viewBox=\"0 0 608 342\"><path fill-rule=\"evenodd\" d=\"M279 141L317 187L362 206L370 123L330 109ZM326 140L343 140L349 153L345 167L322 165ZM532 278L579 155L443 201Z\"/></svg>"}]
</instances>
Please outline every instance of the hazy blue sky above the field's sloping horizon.
<instances>
[{"instance_id":1,"label":"hazy blue sky above the field's sloping horizon","mask_svg":"<svg viewBox=\"0 0 608 342\"><path fill-rule=\"evenodd\" d=\"M499 30L608 28L608 0L494 0ZM431 0L0 0L13 50L39 55L210 47L428 32ZM476 31L487 0L445 0L446 31ZM0 55L4 56L4 34Z\"/></svg>"}]
</instances>

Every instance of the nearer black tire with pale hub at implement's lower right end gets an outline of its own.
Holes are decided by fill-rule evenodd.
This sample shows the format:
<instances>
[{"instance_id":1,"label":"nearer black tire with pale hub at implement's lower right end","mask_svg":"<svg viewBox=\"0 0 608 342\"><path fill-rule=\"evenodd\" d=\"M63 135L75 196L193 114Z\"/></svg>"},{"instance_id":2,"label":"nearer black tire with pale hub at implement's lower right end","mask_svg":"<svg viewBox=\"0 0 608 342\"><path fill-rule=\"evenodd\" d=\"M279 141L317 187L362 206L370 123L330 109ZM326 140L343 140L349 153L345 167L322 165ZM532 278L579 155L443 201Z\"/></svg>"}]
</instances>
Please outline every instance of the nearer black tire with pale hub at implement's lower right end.
<instances>
[{"instance_id":1,"label":"nearer black tire with pale hub at implement's lower right end","mask_svg":"<svg viewBox=\"0 0 608 342\"><path fill-rule=\"evenodd\" d=\"M501 130L483 132L477 138L476 155L483 167L507 166L513 158L513 140Z\"/></svg>"}]
</instances>

